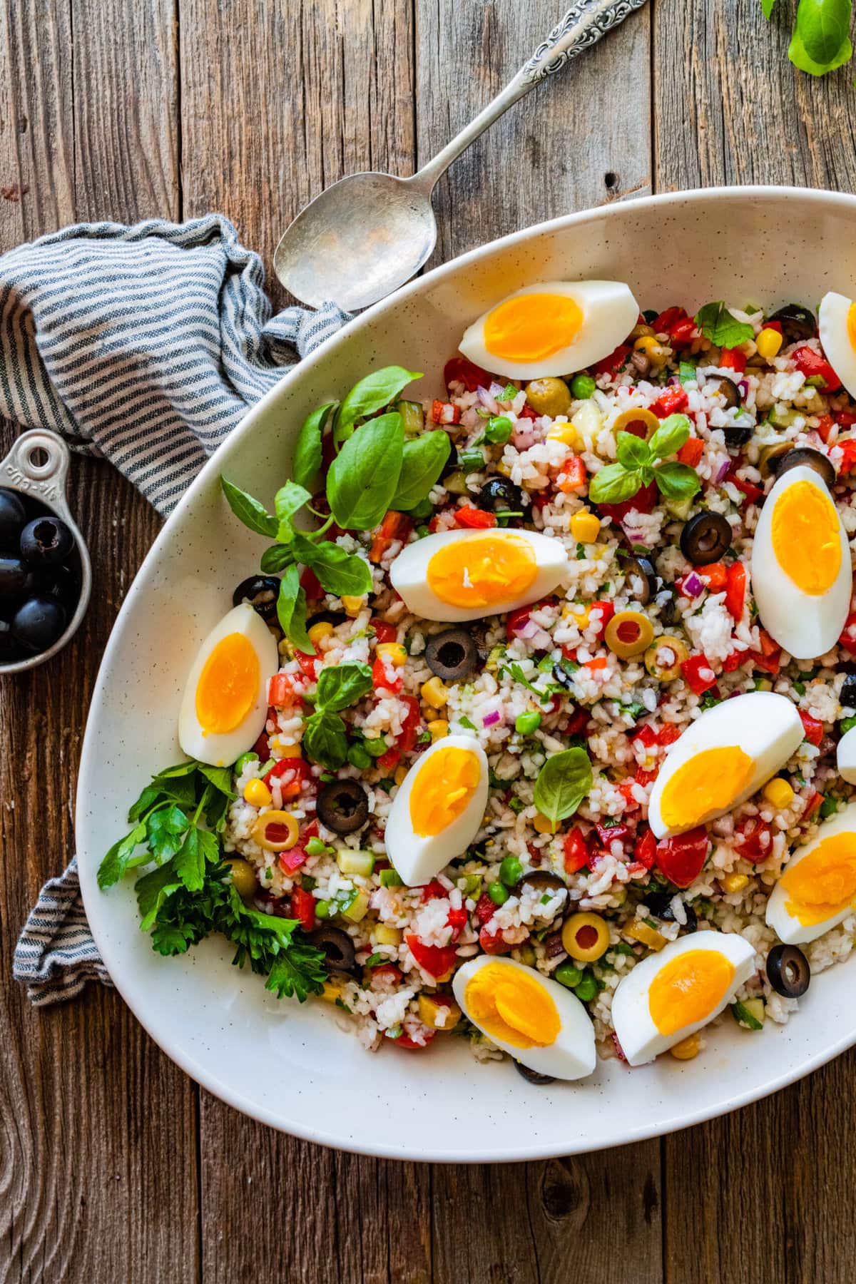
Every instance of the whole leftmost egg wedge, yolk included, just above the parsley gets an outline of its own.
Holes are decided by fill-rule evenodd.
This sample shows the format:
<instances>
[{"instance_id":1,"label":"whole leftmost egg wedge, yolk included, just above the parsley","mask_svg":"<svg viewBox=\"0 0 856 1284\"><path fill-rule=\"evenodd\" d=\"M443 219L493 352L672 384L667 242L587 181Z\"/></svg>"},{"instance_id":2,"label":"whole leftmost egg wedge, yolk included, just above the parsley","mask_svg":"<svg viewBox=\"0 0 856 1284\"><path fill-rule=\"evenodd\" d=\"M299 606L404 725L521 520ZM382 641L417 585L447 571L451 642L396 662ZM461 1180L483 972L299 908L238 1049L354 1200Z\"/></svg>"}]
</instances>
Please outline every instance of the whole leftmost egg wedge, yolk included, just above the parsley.
<instances>
[{"instance_id":1,"label":"whole leftmost egg wedge, yolk included, just above the parsley","mask_svg":"<svg viewBox=\"0 0 856 1284\"><path fill-rule=\"evenodd\" d=\"M245 602L223 616L194 660L178 714L189 758L231 764L264 731L267 684L280 668L273 634Z\"/></svg>"}]
</instances>

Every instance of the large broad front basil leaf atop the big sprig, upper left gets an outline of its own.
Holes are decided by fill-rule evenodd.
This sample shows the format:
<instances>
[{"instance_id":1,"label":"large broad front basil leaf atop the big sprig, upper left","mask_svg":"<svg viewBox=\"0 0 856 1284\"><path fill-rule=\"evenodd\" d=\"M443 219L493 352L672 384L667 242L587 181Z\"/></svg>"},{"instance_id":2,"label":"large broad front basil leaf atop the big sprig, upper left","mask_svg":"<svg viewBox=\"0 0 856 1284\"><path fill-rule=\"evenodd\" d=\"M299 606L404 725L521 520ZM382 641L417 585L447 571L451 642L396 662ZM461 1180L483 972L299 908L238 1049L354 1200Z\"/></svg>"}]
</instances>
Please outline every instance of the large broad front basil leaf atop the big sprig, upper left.
<instances>
[{"instance_id":1,"label":"large broad front basil leaf atop the big sprig, upper left","mask_svg":"<svg viewBox=\"0 0 856 1284\"><path fill-rule=\"evenodd\" d=\"M343 530L372 530L389 511L402 471L404 431L397 411L349 437L327 473L330 511Z\"/></svg>"}]
</instances>

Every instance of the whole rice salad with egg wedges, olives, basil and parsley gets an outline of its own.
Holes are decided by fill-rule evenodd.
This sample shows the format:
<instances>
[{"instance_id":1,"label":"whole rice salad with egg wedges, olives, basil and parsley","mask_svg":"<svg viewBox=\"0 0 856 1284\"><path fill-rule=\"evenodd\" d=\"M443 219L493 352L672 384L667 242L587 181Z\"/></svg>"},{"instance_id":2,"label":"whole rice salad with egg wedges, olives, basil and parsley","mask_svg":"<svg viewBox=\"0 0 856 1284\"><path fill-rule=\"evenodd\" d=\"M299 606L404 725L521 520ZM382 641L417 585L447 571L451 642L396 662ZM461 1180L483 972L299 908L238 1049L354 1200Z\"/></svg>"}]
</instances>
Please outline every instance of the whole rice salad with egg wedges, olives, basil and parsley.
<instances>
[{"instance_id":1,"label":"whole rice salad with egg wedges, olives, basil and parsley","mask_svg":"<svg viewBox=\"0 0 856 1284\"><path fill-rule=\"evenodd\" d=\"M454 1034L533 1082L787 1022L856 935L838 298L530 286L445 395L386 367L320 407L273 514L225 480L273 543L189 682L196 777L101 877L154 860L155 948L222 931L371 1052Z\"/></svg>"}]
</instances>

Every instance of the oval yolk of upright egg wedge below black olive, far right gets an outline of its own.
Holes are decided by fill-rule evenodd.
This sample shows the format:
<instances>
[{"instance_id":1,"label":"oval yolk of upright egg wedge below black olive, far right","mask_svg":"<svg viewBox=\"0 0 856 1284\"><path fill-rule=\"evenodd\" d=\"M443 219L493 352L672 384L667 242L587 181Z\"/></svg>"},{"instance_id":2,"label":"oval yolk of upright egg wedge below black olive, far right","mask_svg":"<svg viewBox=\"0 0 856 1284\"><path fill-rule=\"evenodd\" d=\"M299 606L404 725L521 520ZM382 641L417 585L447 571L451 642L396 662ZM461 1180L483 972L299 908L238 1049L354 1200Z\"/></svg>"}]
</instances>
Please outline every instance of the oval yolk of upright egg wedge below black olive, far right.
<instances>
[{"instance_id":1,"label":"oval yolk of upright egg wedge below black olive, far right","mask_svg":"<svg viewBox=\"0 0 856 1284\"><path fill-rule=\"evenodd\" d=\"M773 551L782 570L811 597L828 592L841 570L838 514L811 482L783 490L773 512Z\"/></svg>"}]
</instances>

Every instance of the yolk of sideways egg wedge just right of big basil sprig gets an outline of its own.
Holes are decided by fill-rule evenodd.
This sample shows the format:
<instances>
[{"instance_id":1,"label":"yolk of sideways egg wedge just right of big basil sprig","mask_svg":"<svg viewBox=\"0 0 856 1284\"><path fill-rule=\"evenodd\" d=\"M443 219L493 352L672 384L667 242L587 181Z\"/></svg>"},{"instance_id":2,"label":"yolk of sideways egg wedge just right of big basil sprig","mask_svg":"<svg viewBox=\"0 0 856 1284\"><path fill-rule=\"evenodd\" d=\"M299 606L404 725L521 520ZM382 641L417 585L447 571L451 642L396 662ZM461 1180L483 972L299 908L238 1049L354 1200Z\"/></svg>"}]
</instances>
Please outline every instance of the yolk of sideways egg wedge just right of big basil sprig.
<instances>
[{"instance_id":1,"label":"yolk of sideways egg wedge just right of big basil sprig","mask_svg":"<svg viewBox=\"0 0 856 1284\"><path fill-rule=\"evenodd\" d=\"M449 606L480 607L509 602L535 583L533 546L520 535L454 539L427 565L430 589Z\"/></svg>"}]
</instances>

